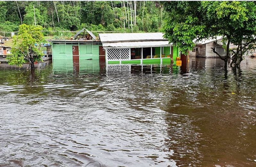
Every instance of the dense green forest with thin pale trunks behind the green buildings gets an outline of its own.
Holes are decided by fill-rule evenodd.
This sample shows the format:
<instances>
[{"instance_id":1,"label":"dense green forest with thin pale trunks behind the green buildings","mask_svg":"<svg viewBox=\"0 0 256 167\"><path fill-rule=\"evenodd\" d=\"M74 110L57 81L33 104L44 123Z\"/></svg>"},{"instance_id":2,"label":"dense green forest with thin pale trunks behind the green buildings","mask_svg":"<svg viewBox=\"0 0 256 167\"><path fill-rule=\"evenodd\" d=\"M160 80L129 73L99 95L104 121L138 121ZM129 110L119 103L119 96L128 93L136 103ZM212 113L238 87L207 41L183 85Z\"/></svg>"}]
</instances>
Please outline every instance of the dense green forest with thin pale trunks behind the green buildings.
<instances>
[{"instance_id":1,"label":"dense green forest with thin pale trunks behind the green buildings","mask_svg":"<svg viewBox=\"0 0 256 167\"><path fill-rule=\"evenodd\" d=\"M158 32L164 17L159 1L0 1L0 31L20 24L44 31Z\"/></svg>"}]
</instances>

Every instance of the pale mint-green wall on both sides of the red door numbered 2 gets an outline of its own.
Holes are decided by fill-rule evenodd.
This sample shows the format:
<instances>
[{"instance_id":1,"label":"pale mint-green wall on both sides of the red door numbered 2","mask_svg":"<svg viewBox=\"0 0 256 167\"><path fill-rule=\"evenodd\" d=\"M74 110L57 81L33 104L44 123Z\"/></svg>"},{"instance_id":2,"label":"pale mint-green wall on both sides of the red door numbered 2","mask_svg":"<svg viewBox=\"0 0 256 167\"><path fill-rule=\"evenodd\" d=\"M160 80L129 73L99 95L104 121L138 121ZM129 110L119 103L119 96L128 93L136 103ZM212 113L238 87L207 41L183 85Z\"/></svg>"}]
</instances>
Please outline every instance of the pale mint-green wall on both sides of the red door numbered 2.
<instances>
[{"instance_id":1,"label":"pale mint-green wall on both sides of the red door numbered 2","mask_svg":"<svg viewBox=\"0 0 256 167\"><path fill-rule=\"evenodd\" d=\"M52 44L53 59L73 59L72 46L79 46L79 59L98 59L98 44Z\"/></svg>"}]
</instances>

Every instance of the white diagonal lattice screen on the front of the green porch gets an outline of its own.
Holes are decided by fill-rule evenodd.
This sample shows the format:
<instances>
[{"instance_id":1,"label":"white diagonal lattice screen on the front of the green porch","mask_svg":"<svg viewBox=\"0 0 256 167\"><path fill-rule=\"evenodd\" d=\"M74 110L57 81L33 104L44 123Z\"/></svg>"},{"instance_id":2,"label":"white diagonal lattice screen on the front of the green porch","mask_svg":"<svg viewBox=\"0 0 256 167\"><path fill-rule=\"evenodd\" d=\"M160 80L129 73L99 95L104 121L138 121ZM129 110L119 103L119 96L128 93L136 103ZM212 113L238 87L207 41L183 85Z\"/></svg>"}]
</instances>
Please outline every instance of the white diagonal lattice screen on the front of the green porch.
<instances>
[{"instance_id":1,"label":"white diagonal lattice screen on the front of the green porch","mask_svg":"<svg viewBox=\"0 0 256 167\"><path fill-rule=\"evenodd\" d=\"M108 60L129 60L130 59L130 49L107 49L107 59Z\"/></svg>"}]
</instances>

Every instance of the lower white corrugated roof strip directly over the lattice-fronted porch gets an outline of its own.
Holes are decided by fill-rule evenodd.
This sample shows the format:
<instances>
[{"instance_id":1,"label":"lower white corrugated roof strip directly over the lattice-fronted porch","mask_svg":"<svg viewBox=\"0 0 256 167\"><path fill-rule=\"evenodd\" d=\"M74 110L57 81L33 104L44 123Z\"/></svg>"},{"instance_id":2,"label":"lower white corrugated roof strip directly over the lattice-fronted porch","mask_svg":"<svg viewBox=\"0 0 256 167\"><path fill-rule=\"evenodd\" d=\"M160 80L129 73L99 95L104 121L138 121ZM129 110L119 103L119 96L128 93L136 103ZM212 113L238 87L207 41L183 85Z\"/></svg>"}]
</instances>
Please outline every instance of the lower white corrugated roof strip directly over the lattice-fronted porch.
<instances>
[{"instance_id":1,"label":"lower white corrugated roof strip directly over the lattice-fronted porch","mask_svg":"<svg viewBox=\"0 0 256 167\"><path fill-rule=\"evenodd\" d=\"M102 43L104 48L118 47L118 48L140 48L140 47L159 47L171 46L168 41L137 41L137 42L106 42Z\"/></svg>"}]
</instances>

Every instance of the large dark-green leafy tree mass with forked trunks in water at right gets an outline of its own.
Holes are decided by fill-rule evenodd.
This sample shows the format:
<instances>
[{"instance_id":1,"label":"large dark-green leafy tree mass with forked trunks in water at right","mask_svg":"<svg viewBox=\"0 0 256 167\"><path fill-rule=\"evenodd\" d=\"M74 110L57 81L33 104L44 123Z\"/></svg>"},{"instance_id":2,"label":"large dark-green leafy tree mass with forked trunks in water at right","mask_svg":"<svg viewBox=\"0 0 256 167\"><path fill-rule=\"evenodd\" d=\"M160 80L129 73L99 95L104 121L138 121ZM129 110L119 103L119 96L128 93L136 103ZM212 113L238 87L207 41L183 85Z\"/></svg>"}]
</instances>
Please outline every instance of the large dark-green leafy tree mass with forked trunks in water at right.
<instances>
[{"instance_id":1,"label":"large dark-green leafy tree mass with forked trunks in water at right","mask_svg":"<svg viewBox=\"0 0 256 167\"><path fill-rule=\"evenodd\" d=\"M243 54L255 46L256 35L256 3L250 1L183 1L163 2L167 17L163 31L170 42L188 54L195 46L193 40L223 36L225 57L227 62L230 52L235 54L231 65L240 67ZM237 45L236 50L230 44Z\"/></svg>"}]
</instances>

